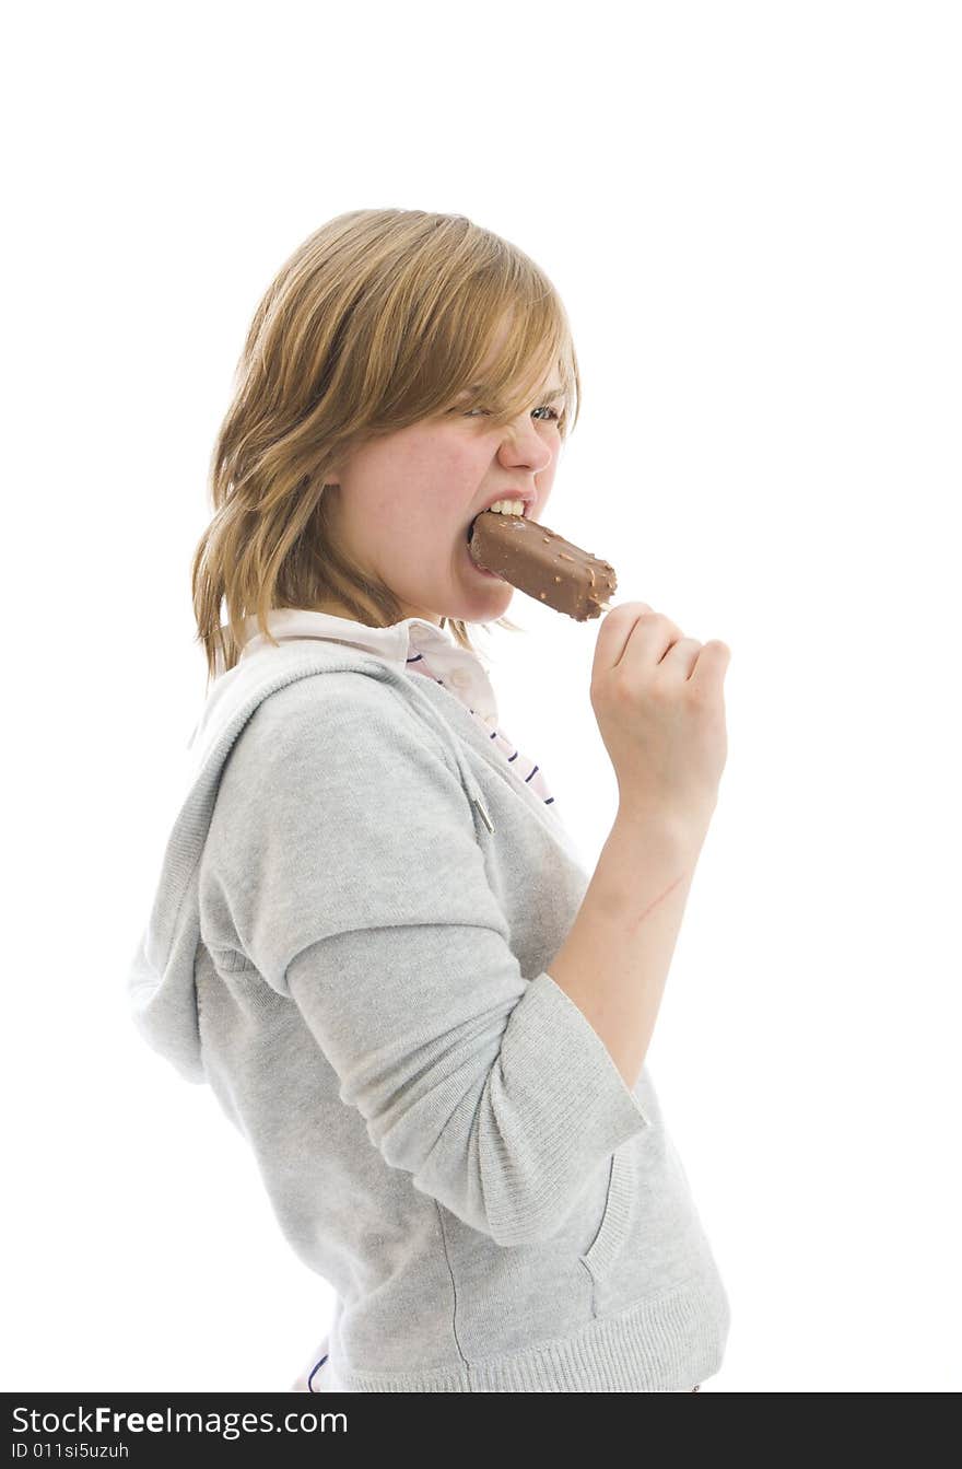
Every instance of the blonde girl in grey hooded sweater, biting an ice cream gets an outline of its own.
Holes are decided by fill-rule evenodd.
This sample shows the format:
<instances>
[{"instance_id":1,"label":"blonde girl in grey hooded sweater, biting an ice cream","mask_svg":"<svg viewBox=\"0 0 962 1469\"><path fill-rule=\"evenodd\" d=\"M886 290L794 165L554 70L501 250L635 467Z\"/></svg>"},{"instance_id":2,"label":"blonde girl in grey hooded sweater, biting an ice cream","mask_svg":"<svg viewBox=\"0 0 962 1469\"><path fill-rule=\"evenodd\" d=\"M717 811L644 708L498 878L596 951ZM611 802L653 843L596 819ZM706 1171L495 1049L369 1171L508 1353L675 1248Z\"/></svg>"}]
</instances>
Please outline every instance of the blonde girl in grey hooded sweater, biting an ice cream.
<instances>
[{"instance_id":1,"label":"blonde girl in grey hooded sweater, biting an ice cream","mask_svg":"<svg viewBox=\"0 0 962 1469\"><path fill-rule=\"evenodd\" d=\"M470 524L540 516L579 386L520 250L355 210L267 289L217 438L197 764L129 989L335 1288L301 1390L692 1391L721 1366L645 1053L728 649L643 602L599 624L620 799L589 878L469 636L516 630Z\"/></svg>"}]
</instances>

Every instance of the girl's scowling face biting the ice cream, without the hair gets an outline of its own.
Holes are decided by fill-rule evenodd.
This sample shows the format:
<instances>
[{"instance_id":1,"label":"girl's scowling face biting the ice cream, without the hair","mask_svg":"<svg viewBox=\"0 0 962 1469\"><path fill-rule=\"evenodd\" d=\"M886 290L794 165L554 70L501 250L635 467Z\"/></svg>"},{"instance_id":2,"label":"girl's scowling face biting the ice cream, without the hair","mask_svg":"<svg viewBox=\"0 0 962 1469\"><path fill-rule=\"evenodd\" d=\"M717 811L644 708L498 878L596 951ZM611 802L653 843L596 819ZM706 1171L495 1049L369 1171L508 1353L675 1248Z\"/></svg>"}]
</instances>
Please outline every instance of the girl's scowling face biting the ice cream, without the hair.
<instances>
[{"instance_id":1,"label":"girl's scowling face biting the ice cream, without the hair","mask_svg":"<svg viewBox=\"0 0 962 1469\"><path fill-rule=\"evenodd\" d=\"M332 533L391 588L402 617L488 623L505 614L514 589L474 566L467 529L495 499L523 494L533 497L526 516L540 519L564 407L554 376L543 389L504 429L486 427L483 407L467 410L464 395L438 417L375 439L338 466L339 488L325 491L333 497Z\"/></svg>"}]
</instances>

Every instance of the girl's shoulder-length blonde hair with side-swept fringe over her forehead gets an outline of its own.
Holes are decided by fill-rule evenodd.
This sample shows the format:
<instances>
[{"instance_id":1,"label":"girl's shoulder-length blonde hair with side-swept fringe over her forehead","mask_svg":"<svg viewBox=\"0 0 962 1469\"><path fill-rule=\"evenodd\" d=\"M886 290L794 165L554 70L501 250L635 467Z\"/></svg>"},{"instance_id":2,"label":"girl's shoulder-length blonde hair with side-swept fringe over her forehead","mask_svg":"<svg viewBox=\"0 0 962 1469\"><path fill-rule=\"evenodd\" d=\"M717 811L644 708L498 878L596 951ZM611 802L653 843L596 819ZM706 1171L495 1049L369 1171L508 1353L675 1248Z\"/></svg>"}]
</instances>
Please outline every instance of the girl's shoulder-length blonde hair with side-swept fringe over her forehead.
<instances>
[{"instance_id":1,"label":"girl's shoulder-length blonde hair with side-swept fringe over her forehead","mask_svg":"<svg viewBox=\"0 0 962 1469\"><path fill-rule=\"evenodd\" d=\"M210 461L214 514L191 563L209 683L236 664L245 618L256 616L276 646L275 607L333 598L369 627L401 620L391 589L333 544L325 476L355 445L438 413L477 382L505 313L511 331L483 375L489 422L513 422L554 370L565 438L580 401L567 313L507 239L464 214L358 209L322 225L285 261L244 342ZM466 408L479 401L474 394ZM498 624L521 630L507 617ZM451 633L474 649L461 620L451 618Z\"/></svg>"}]
</instances>

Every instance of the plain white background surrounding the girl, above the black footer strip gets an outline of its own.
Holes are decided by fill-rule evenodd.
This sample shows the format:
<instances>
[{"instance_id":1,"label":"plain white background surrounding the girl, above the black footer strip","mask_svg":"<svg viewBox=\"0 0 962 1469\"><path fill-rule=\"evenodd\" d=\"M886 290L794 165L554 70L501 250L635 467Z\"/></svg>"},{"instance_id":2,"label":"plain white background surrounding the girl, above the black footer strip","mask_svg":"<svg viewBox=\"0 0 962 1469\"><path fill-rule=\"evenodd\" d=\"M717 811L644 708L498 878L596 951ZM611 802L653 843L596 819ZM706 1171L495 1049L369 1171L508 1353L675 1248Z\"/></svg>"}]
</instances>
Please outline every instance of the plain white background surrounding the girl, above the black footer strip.
<instances>
[{"instance_id":1,"label":"plain white background surrounding the girl, above the black footer strip","mask_svg":"<svg viewBox=\"0 0 962 1469\"><path fill-rule=\"evenodd\" d=\"M702 1391L962 1385L959 9L47 4L3 113L1 1387L283 1390L332 1294L134 1031L253 310L360 207L533 256L585 405L546 523L721 638L728 762L649 1064L733 1306ZM501 715L593 865L596 624ZM297 1401L297 1400L292 1400Z\"/></svg>"}]
</instances>

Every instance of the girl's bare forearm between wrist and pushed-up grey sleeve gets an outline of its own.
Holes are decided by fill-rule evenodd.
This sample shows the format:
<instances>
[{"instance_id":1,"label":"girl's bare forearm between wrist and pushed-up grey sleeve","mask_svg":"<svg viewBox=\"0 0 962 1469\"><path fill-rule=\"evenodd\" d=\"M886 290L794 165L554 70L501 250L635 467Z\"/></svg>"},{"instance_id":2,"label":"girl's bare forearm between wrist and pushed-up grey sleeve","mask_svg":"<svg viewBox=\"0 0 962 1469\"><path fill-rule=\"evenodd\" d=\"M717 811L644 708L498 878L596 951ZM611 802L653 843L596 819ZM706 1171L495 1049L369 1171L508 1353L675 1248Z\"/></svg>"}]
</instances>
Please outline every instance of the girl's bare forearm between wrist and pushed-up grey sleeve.
<instances>
[{"instance_id":1,"label":"girl's bare forearm between wrist and pushed-up grey sleeve","mask_svg":"<svg viewBox=\"0 0 962 1469\"><path fill-rule=\"evenodd\" d=\"M618 815L564 945L546 965L633 1090L701 852L677 824Z\"/></svg>"}]
</instances>

